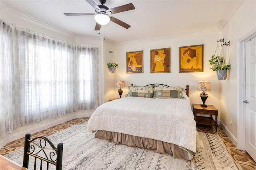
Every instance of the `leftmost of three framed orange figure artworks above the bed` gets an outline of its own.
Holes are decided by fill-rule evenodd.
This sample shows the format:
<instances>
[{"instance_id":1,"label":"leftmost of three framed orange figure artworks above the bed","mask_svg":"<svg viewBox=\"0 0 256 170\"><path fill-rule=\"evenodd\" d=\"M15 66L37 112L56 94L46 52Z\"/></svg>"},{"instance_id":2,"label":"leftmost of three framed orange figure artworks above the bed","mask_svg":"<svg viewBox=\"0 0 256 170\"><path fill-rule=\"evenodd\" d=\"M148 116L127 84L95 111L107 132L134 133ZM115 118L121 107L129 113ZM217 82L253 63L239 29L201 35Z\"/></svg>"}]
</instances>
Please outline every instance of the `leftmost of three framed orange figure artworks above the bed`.
<instances>
[{"instance_id":1,"label":"leftmost of three framed orange figure artworks above the bed","mask_svg":"<svg viewBox=\"0 0 256 170\"><path fill-rule=\"evenodd\" d=\"M143 73L143 51L126 52L126 73Z\"/></svg>"}]
</instances>

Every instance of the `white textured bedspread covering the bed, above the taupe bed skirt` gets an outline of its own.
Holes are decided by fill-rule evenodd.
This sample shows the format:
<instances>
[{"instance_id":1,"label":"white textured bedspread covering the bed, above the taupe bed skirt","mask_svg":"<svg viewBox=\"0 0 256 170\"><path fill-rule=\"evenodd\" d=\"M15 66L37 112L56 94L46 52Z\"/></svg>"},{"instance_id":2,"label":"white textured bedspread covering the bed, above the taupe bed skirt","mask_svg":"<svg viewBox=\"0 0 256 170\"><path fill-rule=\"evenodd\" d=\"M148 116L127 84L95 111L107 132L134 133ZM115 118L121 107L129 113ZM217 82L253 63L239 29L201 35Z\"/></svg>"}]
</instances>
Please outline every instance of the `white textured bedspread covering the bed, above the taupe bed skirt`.
<instances>
[{"instance_id":1,"label":"white textured bedspread covering the bed, above the taupe bed skirt","mask_svg":"<svg viewBox=\"0 0 256 170\"><path fill-rule=\"evenodd\" d=\"M161 140L196 152L196 122L188 97L122 97L104 103L88 121L88 131L94 130Z\"/></svg>"}]
</instances>

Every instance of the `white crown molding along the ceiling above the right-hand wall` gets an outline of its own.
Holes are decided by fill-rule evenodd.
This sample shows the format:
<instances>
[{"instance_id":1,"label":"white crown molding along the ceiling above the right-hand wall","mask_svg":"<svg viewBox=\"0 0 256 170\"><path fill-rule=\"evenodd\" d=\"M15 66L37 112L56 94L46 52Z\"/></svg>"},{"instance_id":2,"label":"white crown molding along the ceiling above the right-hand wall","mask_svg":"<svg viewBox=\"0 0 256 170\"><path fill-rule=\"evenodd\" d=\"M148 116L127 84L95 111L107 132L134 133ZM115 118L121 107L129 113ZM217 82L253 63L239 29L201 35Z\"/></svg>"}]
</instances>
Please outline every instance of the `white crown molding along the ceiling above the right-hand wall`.
<instances>
[{"instance_id":1,"label":"white crown molding along the ceiling above the right-hand wall","mask_svg":"<svg viewBox=\"0 0 256 170\"><path fill-rule=\"evenodd\" d=\"M222 30L230 21L230 19L236 14L237 10L242 6L245 0L236 0L231 8L228 10L226 16L218 26L219 30Z\"/></svg>"}]
</instances>

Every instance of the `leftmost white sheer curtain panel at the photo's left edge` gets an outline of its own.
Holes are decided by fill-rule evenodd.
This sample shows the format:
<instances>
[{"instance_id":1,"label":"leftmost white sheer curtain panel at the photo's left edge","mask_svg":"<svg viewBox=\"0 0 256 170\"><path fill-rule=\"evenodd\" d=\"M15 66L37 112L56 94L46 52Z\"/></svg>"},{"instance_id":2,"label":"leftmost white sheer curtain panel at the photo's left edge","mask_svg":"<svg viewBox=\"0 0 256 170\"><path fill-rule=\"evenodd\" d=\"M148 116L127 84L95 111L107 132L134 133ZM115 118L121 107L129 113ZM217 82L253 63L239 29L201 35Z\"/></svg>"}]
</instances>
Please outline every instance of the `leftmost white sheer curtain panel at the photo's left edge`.
<instances>
[{"instance_id":1,"label":"leftmost white sheer curtain panel at the photo's left edge","mask_svg":"<svg viewBox=\"0 0 256 170\"><path fill-rule=\"evenodd\" d=\"M12 28L0 20L0 136L13 130L14 69Z\"/></svg>"}]
</instances>

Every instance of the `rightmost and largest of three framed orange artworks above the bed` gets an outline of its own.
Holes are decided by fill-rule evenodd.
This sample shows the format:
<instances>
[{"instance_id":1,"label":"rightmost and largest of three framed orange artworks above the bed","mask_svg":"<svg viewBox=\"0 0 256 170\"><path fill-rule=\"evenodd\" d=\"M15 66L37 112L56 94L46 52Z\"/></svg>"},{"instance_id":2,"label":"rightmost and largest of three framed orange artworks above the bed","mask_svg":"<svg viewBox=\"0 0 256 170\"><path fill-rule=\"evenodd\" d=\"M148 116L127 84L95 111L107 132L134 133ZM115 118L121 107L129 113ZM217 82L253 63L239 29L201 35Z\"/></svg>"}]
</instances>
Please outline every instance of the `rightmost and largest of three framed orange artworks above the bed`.
<instances>
[{"instance_id":1,"label":"rightmost and largest of three framed orange artworks above the bed","mask_svg":"<svg viewBox=\"0 0 256 170\"><path fill-rule=\"evenodd\" d=\"M204 44L179 47L179 73L203 72Z\"/></svg>"}]
</instances>

